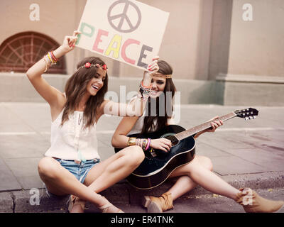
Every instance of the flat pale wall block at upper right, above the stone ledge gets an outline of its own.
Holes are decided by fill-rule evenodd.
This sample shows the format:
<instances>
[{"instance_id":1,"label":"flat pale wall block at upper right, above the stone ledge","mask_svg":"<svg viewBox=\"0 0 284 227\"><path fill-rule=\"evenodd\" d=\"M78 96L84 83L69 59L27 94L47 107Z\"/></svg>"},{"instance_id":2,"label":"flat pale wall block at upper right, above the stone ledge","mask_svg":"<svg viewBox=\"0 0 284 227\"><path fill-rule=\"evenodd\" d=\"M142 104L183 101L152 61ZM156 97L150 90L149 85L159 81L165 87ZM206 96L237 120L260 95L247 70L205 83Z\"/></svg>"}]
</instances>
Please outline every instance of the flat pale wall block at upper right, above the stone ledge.
<instances>
[{"instance_id":1,"label":"flat pale wall block at upper right, above the stone ledge","mask_svg":"<svg viewBox=\"0 0 284 227\"><path fill-rule=\"evenodd\" d=\"M246 3L253 6L253 21L241 17ZM229 73L284 77L283 21L283 0L234 0Z\"/></svg>"}]
</instances>

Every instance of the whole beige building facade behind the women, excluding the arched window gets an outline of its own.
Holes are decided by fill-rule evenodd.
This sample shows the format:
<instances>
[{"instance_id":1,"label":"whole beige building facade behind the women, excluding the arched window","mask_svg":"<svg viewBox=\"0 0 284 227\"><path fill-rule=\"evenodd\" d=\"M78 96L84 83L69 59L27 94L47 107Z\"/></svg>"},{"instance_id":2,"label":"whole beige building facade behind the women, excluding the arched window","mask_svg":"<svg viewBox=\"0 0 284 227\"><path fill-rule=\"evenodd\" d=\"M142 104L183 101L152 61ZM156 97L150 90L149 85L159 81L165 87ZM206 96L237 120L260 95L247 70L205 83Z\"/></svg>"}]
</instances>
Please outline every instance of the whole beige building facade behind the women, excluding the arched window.
<instances>
[{"instance_id":1,"label":"whole beige building facade behind the women, excluding the arched window","mask_svg":"<svg viewBox=\"0 0 284 227\"><path fill-rule=\"evenodd\" d=\"M16 33L36 31L61 44L65 35L71 35L77 29L86 1L2 0L0 43ZM283 105L283 101L274 98L284 96L281 79L284 78L283 0L140 1L170 12L159 55L173 66L173 79L182 91L182 103L239 105L244 104L249 95L252 103ZM253 6L253 21L243 20L243 6L247 3ZM40 21L30 20L31 4L39 4ZM96 54L80 48L68 53L68 76L75 71L77 62L91 55ZM109 75L121 77L124 82L128 81L125 78L138 79L143 74L135 67L107 57L102 59L107 62ZM2 79L6 77L7 74ZM212 82L216 79L217 85L214 85ZM183 84L186 84L185 87ZM278 94L276 91L265 93L263 84L267 84L266 91L280 88ZM189 86L192 87L187 89ZM250 86L258 89L249 89ZM200 99L197 89L205 93L204 98ZM251 90L254 91L253 96L249 92ZM244 98L236 99L240 92ZM269 96L269 99L260 102L258 92L261 96ZM211 94L217 94L217 99L211 99Z\"/></svg>"}]
</instances>

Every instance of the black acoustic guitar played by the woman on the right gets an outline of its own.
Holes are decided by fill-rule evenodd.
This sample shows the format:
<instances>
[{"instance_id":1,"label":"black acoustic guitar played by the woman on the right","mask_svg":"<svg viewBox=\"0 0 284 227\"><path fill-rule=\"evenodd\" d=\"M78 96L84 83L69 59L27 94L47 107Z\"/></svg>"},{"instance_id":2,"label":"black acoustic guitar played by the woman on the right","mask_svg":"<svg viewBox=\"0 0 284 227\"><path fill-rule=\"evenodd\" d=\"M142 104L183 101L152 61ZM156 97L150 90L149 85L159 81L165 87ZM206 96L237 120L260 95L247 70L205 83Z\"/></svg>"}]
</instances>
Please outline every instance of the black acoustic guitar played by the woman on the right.
<instances>
[{"instance_id":1,"label":"black acoustic guitar played by the woman on the right","mask_svg":"<svg viewBox=\"0 0 284 227\"><path fill-rule=\"evenodd\" d=\"M237 110L219 117L227 121L234 117L246 120L256 118L258 111L253 108ZM138 189L151 189L165 182L176 168L187 164L195 157L195 138L193 136L200 131L211 128L210 122L202 123L188 130L178 125L169 125L153 133L132 134L129 137L136 138L167 138L172 142L172 148L165 153L163 150L148 148L145 150L145 158L141 165L134 170L126 180ZM117 153L123 148L114 148Z\"/></svg>"}]
</instances>

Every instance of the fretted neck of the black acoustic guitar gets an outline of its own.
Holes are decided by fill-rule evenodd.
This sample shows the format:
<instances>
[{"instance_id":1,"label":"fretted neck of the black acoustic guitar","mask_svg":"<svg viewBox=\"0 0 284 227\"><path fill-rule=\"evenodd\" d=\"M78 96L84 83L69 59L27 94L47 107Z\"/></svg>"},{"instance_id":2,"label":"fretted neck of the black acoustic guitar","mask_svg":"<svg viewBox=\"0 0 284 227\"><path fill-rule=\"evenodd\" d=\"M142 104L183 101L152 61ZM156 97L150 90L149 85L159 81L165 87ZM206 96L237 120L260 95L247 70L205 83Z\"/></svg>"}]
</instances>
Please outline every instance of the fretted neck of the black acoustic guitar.
<instances>
[{"instance_id":1,"label":"fretted neck of the black acoustic guitar","mask_svg":"<svg viewBox=\"0 0 284 227\"><path fill-rule=\"evenodd\" d=\"M230 114L226 114L224 116L219 117L220 120L222 121L227 121L231 118L234 118L236 116L236 114L234 112L230 113ZM187 138L191 135L195 135L195 133L199 133L201 131L204 131L207 128L211 128L211 123L210 122L206 122L206 123L202 123L200 126L195 126L193 128L190 128L186 131L182 131L180 133L175 134L175 137L178 138L178 140L183 140L184 138Z\"/></svg>"}]
</instances>

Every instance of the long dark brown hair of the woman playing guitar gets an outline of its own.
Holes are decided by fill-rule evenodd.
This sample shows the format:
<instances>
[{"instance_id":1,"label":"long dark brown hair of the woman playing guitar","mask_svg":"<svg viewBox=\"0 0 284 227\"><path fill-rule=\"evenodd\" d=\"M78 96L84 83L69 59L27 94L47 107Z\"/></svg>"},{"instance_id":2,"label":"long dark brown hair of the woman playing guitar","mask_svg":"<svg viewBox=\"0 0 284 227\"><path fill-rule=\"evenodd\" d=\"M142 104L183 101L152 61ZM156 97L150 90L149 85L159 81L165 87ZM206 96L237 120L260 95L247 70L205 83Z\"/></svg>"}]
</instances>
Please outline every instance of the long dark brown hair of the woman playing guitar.
<instances>
[{"instance_id":1,"label":"long dark brown hair of the woman playing guitar","mask_svg":"<svg viewBox=\"0 0 284 227\"><path fill-rule=\"evenodd\" d=\"M164 60L158 60L158 66L159 70L158 73L160 74L173 74L173 68ZM144 118L143 128L141 133L148 133L150 131L158 131L161 128L165 127L168 123L168 118L171 116L168 116L167 113L167 104L170 103L171 105L171 112L173 114L173 97L175 96L176 92L175 84L173 84L172 78L167 78L165 80L165 89L163 91L164 99L160 99L159 97L154 98L156 103L156 109L155 109L155 116L151 116L151 100L154 101L151 97L148 99L148 105L146 106L146 117ZM171 92L170 100L169 96L166 95L166 92ZM163 102L163 103L161 103ZM163 105L163 113L160 113L160 105ZM162 116L160 116L162 115Z\"/></svg>"}]
</instances>

